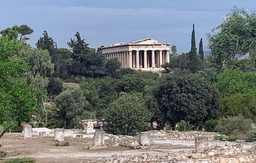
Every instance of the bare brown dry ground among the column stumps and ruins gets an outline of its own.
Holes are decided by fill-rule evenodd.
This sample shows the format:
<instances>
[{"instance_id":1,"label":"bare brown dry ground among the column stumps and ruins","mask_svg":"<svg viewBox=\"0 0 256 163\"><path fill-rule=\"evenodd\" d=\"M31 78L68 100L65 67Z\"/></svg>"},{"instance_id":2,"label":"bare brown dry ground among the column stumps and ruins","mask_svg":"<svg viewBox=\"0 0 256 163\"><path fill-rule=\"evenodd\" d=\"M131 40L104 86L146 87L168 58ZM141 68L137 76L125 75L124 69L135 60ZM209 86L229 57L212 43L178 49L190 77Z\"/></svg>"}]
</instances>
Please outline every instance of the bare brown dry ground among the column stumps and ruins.
<instances>
[{"instance_id":1,"label":"bare brown dry ground among the column stumps and ruins","mask_svg":"<svg viewBox=\"0 0 256 163\"><path fill-rule=\"evenodd\" d=\"M7 158L32 156L37 159L37 163L86 163L88 160L95 160L102 157L117 155L136 155L140 153L150 153L151 155L167 155L168 151L192 150L195 148L193 141L169 139L153 139L150 149L129 149L125 147L111 147L104 149L88 150L85 146L93 145L92 138L77 139L65 138L69 146L54 146L53 137L34 136L29 139L19 139L23 137L21 133L6 133L1 139L2 151L9 151ZM105 143L110 140L105 140ZM216 141L209 145L215 145ZM225 143L219 143L224 145ZM252 145L245 145L250 148ZM0 160L4 162L5 160Z\"/></svg>"}]
</instances>

